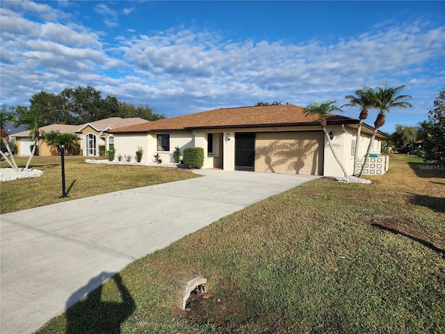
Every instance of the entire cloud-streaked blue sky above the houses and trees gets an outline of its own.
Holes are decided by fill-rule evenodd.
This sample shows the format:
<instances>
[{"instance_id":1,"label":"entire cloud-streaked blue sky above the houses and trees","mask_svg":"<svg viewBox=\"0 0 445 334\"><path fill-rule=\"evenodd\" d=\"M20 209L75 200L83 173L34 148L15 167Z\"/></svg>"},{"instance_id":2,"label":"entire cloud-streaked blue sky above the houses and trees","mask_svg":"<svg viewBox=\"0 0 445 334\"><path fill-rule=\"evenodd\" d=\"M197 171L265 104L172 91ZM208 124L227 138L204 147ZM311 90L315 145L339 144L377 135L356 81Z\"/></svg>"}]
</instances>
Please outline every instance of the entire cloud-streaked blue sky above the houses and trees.
<instances>
[{"instance_id":1,"label":"entire cloud-streaked blue sky above the houses and trees","mask_svg":"<svg viewBox=\"0 0 445 334\"><path fill-rule=\"evenodd\" d=\"M0 102L93 86L167 117L306 106L406 85L416 125L445 87L445 1L4 1ZM359 111L345 108L357 118ZM373 124L375 111L366 122Z\"/></svg>"}]
</instances>

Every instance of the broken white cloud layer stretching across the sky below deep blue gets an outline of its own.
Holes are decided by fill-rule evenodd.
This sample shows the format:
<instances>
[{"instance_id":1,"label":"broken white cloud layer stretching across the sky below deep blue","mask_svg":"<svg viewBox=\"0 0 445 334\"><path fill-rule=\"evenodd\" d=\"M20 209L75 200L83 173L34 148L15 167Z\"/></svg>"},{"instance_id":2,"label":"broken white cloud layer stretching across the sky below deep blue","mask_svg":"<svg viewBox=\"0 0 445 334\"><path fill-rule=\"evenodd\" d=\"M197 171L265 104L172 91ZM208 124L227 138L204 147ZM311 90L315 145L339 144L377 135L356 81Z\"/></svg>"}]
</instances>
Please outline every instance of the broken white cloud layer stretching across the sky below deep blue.
<instances>
[{"instance_id":1,"label":"broken white cloud layer stretching across the sky below deep blue","mask_svg":"<svg viewBox=\"0 0 445 334\"><path fill-rule=\"evenodd\" d=\"M425 92L444 82L445 29L428 22L382 25L377 33L330 44L316 39L299 44L234 42L220 33L176 28L131 38L111 36L113 45L112 39L102 40L102 33L79 23L25 18L25 8L39 15L56 13L39 3L2 6L2 102L16 102L15 96L21 95L18 103L23 104L42 89L58 93L67 86L89 84L136 104L150 100L156 109L161 106L159 111L174 116L259 100L300 105L341 100L360 86L388 81L391 86L408 84L408 94L421 95L422 102L415 101L410 113L423 113L424 99L432 102L439 93ZM117 25L115 10L103 3L95 10L106 24Z\"/></svg>"}]
</instances>

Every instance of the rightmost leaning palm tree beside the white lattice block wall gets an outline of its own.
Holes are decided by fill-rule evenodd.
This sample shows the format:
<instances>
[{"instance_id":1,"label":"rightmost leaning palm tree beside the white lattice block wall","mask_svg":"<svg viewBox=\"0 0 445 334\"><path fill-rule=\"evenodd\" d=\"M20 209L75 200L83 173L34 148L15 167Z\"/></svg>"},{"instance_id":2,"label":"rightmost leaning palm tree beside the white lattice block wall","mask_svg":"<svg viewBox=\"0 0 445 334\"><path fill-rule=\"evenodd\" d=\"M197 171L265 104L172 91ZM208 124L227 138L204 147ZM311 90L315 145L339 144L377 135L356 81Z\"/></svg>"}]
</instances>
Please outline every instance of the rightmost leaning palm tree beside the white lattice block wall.
<instances>
[{"instance_id":1,"label":"rightmost leaning palm tree beside the white lattice block wall","mask_svg":"<svg viewBox=\"0 0 445 334\"><path fill-rule=\"evenodd\" d=\"M378 129L385 125L386 114L389 113L389 110L407 109L412 107L412 104L407 102L412 100L410 95L398 95L405 88L405 85L391 88L388 87L387 84L382 84L382 86L378 86L377 91L375 91L374 108L378 110L378 114L377 118L375 118L374 131L371 136L371 141L369 141L368 150L366 151L366 156L364 157L364 162L359 177L362 177L364 173L366 165L368 164L369 154L371 153L375 135L377 134Z\"/></svg>"}]
</instances>

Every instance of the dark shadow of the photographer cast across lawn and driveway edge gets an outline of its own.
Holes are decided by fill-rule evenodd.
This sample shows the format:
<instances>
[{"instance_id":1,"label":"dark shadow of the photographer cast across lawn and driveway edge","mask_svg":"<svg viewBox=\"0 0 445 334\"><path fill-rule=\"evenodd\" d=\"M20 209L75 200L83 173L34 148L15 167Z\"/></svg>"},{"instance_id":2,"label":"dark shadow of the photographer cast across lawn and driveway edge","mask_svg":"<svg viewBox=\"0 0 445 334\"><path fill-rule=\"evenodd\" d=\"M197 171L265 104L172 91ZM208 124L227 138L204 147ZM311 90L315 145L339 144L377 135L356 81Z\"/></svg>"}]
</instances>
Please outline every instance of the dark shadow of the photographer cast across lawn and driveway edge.
<instances>
[{"instance_id":1,"label":"dark shadow of the photographer cast across lawn and driveway edge","mask_svg":"<svg viewBox=\"0 0 445 334\"><path fill-rule=\"evenodd\" d=\"M102 283L111 276L113 273L102 272L99 276L92 278L86 286L74 292L68 299L65 334L120 333L120 325L134 312L136 303L127 287L122 284L119 273L115 274L112 279L118 287L122 301L102 301ZM90 292L93 289L94 291ZM86 298L81 299L88 292L90 293Z\"/></svg>"}]
</instances>

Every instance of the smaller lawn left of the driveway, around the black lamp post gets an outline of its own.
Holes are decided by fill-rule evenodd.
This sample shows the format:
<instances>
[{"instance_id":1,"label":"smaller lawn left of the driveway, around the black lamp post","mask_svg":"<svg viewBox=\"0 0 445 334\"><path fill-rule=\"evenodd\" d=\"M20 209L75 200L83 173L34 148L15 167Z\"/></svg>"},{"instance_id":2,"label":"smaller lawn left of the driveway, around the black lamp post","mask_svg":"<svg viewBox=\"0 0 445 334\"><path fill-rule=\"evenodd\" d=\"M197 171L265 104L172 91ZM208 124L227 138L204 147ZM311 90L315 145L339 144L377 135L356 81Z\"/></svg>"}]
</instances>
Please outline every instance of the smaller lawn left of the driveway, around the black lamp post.
<instances>
[{"instance_id":1,"label":"smaller lawn left of the driveway, around the black lamp post","mask_svg":"<svg viewBox=\"0 0 445 334\"><path fill-rule=\"evenodd\" d=\"M26 159L16 158L19 168L26 165ZM60 198L60 157L34 157L29 168L42 170L44 175L33 179L1 182L0 213L198 177L190 170L181 168L86 164L84 160L84 157L65 157L65 186L68 198ZM8 164L1 161L0 167L6 168Z\"/></svg>"}]
</instances>

